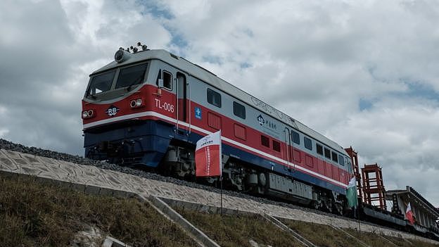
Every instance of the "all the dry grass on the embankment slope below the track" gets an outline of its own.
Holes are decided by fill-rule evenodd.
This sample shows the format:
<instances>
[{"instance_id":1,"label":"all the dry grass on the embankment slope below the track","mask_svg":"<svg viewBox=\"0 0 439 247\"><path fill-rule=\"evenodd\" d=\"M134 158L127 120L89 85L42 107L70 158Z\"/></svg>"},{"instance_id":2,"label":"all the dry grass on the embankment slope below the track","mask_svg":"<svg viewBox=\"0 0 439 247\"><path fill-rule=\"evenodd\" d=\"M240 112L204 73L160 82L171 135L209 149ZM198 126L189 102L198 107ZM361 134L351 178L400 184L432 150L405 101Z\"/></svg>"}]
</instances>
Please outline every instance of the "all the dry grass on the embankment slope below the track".
<instances>
[{"instance_id":1,"label":"all the dry grass on the embankment slope below the track","mask_svg":"<svg viewBox=\"0 0 439 247\"><path fill-rule=\"evenodd\" d=\"M174 223L135 198L93 196L34 177L0 175L0 247L70 246L75 234L94 226L131 246L196 246ZM260 215L177 211L220 246L301 246ZM324 224L282 220L317 246L361 246ZM439 244L344 229L369 246L439 247ZM391 241L392 243L390 243Z\"/></svg>"}]
</instances>

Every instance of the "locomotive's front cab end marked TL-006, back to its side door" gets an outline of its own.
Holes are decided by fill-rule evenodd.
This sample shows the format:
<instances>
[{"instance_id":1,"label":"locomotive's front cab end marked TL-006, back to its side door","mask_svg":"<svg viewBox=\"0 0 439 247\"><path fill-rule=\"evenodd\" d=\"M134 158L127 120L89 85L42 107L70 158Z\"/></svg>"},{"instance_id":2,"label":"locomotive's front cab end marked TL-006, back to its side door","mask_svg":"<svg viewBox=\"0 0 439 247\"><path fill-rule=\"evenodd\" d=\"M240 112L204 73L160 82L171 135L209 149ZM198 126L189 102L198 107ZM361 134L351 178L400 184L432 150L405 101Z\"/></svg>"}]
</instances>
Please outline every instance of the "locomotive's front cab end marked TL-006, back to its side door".
<instances>
[{"instance_id":1,"label":"locomotive's front cab end marked TL-006, back to its side door","mask_svg":"<svg viewBox=\"0 0 439 247\"><path fill-rule=\"evenodd\" d=\"M188 75L174 61L187 63L164 50L119 49L91 73L82 99L87 158L157 167L172 139L188 140Z\"/></svg>"}]
</instances>

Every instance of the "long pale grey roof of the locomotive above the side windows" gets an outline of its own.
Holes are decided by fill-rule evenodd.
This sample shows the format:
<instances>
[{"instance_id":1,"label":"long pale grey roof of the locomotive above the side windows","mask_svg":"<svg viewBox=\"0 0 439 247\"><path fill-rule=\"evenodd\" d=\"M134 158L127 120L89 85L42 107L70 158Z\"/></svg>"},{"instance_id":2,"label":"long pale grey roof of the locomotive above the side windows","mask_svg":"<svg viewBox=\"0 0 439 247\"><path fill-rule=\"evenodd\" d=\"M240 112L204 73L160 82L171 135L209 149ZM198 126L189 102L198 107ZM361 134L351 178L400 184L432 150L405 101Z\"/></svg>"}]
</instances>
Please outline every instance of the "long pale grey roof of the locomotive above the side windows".
<instances>
[{"instance_id":1,"label":"long pale grey roof of the locomotive above the side windows","mask_svg":"<svg viewBox=\"0 0 439 247\"><path fill-rule=\"evenodd\" d=\"M210 84L212 87L215 87L220 91L223 91L231 96L236 97L236 99L240 99L241 101L247 103L249 106L253 106L256 109L261 110L265 114L270 115L272 118L276 118L277 120L284 122L286 125L289 125L294 129L297 129L298 131L307 134L307 136L310 136L314 139L321 141L322 144L325 144L326 146L329 146L335 149L336 151L347 155L345 150L341 146L339 146L335 141L331 141L330 139L324 137L324 135L320 134L319 132L316 132L314 129L311 129L310 127L307 127L306 125L299 122L298 120L289 117L285 113L282 113L280 110L276 110L272 106L269 106L267 103L264 103L259 99L256 99L255 97L251 96L245 91L238 89L238 87L235 87L229 82L222 80L220 77L217 77L217 75L206 70L205 68L202 68L199 65L187 61L185 58L175 56L174 54L165 51L163 49L129 53L129 56L130 57L129 59L127 59L127 61L123 61L122 63L117 63L116 61L113 61L103 66L102 68L92 72L91 75L94 75L98 72L103 72L105 70L109 70L111 68L115 68L120 65L127 65L129 63L136 63L150 59L158 59L165 63L169 63L170 65L173 65L174 67L179 68L180 70L183 70L184 72L188 73L190 76L196 77L199 80L202 80L207 84Z\"/></svg>"}]
</instances>

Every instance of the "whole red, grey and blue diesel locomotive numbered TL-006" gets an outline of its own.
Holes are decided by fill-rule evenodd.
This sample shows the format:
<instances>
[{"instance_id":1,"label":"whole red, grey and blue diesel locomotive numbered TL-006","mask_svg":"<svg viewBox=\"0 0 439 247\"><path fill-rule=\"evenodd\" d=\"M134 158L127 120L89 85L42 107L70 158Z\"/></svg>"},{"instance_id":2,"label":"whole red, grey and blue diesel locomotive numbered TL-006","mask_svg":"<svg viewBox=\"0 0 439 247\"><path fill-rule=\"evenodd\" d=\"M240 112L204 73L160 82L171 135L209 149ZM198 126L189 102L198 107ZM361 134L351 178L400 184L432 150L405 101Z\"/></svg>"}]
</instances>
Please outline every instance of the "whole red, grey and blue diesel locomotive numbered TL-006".
<instances>
[{"instance_id":1,"label":"whole red, grey and blue diesel locomotive numbered TL-006","mask_svg":"<svg viewBox=\"0 0 439 247\"><path fill-rule=\"evenodd\" d=\"M90 75L85 157L193 178L196 141L222 130L224 186L343 213L353 171L341 146L185 58L137 45Z\"/></svg>"}]
</instances>

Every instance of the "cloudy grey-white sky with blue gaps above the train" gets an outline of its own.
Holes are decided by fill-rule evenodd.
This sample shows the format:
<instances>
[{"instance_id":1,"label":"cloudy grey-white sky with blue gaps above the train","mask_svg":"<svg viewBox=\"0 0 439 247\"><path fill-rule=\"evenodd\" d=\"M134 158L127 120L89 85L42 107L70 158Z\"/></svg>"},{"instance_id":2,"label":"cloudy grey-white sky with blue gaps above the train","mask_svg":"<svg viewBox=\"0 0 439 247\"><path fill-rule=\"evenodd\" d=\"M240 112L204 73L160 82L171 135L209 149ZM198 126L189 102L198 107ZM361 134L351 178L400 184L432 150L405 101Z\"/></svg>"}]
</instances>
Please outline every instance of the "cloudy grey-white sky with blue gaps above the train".
<instances>
[{"instance_id":1,"label":"cloudy grey-white sky with blue gaps above the train","mask_svg":"<svg viewBox=\"0 0 439 247\"><path fill-rule=\"evenodd\" d=\"M88 75L141 41L439 207L438 1L0 1L0 138L82 155Z\"/></svg>"}]
</instances>

